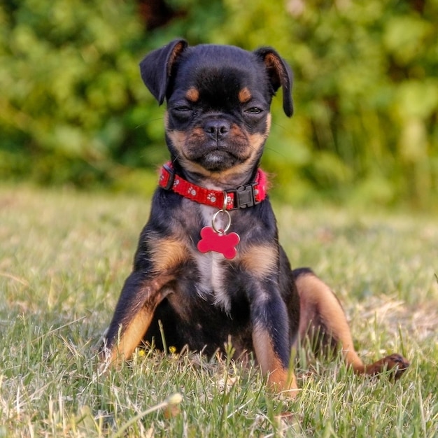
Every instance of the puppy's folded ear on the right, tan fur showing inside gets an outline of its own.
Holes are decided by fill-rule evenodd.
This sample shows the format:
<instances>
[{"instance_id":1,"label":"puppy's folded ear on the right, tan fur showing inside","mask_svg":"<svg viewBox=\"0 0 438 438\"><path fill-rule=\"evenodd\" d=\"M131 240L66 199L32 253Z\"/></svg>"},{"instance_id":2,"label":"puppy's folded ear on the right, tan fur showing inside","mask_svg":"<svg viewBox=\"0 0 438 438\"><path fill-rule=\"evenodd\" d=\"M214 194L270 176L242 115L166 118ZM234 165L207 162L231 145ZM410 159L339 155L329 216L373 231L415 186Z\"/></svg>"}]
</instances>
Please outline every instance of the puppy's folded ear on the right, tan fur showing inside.
<instances>
[{"instance_id":1,"label":"puppy's folded ear on the right, tan fur showing inside","mask_svg":"<svg viewBox=\"0 0 438 438\"><path fill-rule=\"evenodd\" d=\"M283 111L285 115L291 117L293 114L293 104L292 71L290 66L273 48L262 47L254 50L254 53L264 62L274 92L279 87L283 87Z\"/></svg>"}]
</instances>

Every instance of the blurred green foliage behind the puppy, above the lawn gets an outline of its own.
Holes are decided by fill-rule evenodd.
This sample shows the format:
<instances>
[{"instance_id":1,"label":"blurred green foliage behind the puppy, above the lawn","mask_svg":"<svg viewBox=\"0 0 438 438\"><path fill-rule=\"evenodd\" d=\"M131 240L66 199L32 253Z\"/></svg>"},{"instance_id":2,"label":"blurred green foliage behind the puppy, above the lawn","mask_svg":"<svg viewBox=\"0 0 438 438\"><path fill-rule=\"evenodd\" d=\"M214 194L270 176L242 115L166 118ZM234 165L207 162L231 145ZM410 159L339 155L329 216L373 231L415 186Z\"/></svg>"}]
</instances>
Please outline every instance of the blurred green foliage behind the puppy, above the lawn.
<instances>
[{"instance_id":1,"label":"blurred green foliage behind the puppy, above the lawn","mask_svg":"<svg viewBox=\"0 0 438 438\"><path fill-rule=\"evenodd\" d=\"M263 162L277 196L437 203L438 0L167 0L154 28L146 3L1 4L1 179L153 190L163 108L138 62L182 36L290 62L295 115L274 101Z\"/></svg>"}]
</instances>

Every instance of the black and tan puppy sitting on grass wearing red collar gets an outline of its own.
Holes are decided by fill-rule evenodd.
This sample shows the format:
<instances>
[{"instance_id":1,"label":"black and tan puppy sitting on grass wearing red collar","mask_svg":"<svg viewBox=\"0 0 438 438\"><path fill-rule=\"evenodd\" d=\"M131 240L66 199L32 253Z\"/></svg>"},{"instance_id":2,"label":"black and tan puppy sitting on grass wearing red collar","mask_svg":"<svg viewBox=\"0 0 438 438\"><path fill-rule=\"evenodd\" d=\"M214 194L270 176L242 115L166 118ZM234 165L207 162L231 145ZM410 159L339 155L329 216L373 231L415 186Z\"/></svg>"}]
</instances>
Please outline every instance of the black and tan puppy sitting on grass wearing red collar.
<instances>
[{"instance_id":1,"label":"black and tan puppy sitting on grass wearing red collar","mask_svg":"<svg viewBox=\"0 0 438 438\"><path fill-rule=\"evenodd\" d=\"M278 244L259 162L279 87L292 115L284 60L271 48L178 40L143 59L141 77L167 101L171 161L106 335L104 366L129 359L142 341L162 348L161 321L167 346L178 349L212 355L230 338L236 357L255 353L270 386L291 395L291 349L311 337L339 346L355 372L400 376L409 363L397 354L363 365L330 288L310 269L292 271Z\"/></svg>"}]
</instances>

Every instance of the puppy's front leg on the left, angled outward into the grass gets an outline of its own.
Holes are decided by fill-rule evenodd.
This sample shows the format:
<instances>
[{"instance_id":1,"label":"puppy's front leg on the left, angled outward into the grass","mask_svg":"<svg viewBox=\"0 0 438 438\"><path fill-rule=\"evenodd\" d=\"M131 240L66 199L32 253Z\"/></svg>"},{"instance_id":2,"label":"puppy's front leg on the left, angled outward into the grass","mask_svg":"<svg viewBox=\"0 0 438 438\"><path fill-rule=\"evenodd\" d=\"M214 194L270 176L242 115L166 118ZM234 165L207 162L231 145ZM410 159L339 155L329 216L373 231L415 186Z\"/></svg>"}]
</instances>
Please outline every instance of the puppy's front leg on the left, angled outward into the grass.
<instances>
[{"instance_id":1,"label":"puppy's front leg on the left, angled outward into the grass","mask_svg":"<svg viewBox=\"0 0 438 438\"><path fill-rule=\"evenodd\" d=\"M104 368L131 357L148 330L155 309L169 293L164 285L170 279L166 275L148 277L143 271L134 271L127 278L101 350Z\"/></svg>"}]
</instances>

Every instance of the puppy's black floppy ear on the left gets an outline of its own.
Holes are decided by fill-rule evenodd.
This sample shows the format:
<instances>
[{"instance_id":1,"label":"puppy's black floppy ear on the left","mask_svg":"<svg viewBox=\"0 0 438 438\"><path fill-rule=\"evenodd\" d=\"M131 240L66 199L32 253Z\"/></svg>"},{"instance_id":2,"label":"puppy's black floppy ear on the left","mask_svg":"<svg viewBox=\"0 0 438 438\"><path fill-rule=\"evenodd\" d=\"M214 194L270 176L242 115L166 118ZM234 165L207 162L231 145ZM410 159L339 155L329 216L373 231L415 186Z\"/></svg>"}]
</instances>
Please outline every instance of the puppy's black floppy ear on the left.
<instances>
[{"instance_id":1,"label":"puppy's black floppy ear on the left","mask_svg":"<svg viewBox=\"0 0 438 438\"><path fill-rule=\"evenodd\" d=\"M141 78L160 105L166 97L172 66L187 46L187 41L183 39L171 41L164 47L150 52L140 62Z\"/></svg>"}]
</instances>

